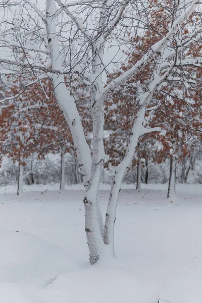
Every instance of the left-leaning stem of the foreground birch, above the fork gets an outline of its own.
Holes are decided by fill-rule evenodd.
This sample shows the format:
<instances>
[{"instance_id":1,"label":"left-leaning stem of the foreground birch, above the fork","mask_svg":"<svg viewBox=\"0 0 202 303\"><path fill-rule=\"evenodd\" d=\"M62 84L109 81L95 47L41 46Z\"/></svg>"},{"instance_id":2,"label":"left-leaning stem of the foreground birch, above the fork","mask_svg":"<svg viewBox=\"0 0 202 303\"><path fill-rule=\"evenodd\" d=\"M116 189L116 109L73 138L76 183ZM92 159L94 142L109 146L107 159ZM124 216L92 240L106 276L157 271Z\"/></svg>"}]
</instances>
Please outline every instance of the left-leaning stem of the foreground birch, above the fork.
<instances>
[{"instance_id":1,"label":"left-leaning stem of the foreground birch, above the fork","mask_svg":"<svg viewBox=\"0 0 202 303\"><path fill-rule=\"evenodd\" d=\"M55 13L57 11L55 0L46 1L46 30L47 30L47 48L51 59L52 68L63 71L62 58L60 54L58 35L56 30ZM81 119L76 108L73 97L70 95L65 85L63 75L52 75L54 92L57 102L64 114L64 117L70 127L74 141L75 151L78 157L84 186L88 186L91 154L90 148L86 142Z\"/></svg>"}]
</instances>

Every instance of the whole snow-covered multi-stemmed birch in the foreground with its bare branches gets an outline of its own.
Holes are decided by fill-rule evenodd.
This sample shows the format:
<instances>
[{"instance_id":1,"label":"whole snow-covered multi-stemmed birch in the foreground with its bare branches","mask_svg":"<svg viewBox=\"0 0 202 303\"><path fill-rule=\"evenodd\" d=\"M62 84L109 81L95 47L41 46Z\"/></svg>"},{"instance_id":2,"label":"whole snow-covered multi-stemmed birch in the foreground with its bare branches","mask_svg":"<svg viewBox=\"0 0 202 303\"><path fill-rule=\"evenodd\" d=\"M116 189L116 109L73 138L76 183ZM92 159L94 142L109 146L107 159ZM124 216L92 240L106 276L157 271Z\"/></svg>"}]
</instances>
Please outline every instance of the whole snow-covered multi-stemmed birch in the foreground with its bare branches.
<instances>
[{"instance_id":1,"label":"whole snow-covered multi-stemmed birch in the foreground with its bare branches","mask_svg":"<svg viewBox=\"0 0 202 303\"><path fill-rule=\"evenodd\" d=\"M198 0L178 3L165 1L163 4L158 1L134 3L129 0L64 4L61 0L46 0L45 11L42 11L31 0L24 0L19 1L18 14L23 20L15 16L12 22L4 22L6 15L3 19L0 44L5 48L7 55L2 54L0 57L3 70L1 73L8 73L9 70L15 74L23 70L24 73L32 72L37 82L41 77L51 79L57 103L69 125L86 189L85 231L91 264L109 252L113 254L116 208L123 177L131 165L139 137L159 130L157 127L150 129L142 125L145 111L150 107L154 93L165 86L170 78L176 77L178 69L183 65L201 63L201 58L181 57L182 46L188 47L193 38L199 41L199 22L194 23L194 17L190 17L193 11L197 12L198 5ZM170 22L164 27L162 20L162 31L157 33L155 27L150 25L152 24L150 21L156 17L155 12L159 8L162 10L161 15L166 15ZM157 22L158 20L160 19L157 18ZM20 26L22 21L23 27ZM137 56L120 76L109 79L106 84L106 78L110 76L105 63L108 45L110 43L118 45L116 53L119 56L123 54L123 47L128 49L132 47L135 52L138 43L127 42L124 35L132 29L135 29L135 34L141 35L142 28L145 27L150 29L151 36L155 37L150 39L154 44L148 45L145 52ZM190 31L183 34L186 27L190 28ZM13 58L13 47L23 49L27 58L26 63L19 63ZM28 56L29 53L35 55ZM47 56L48 60L41 63L39 54ZM119 64L117 57L112 58L107 64L114 61ZM103 224L97 193L105 161L104 102L109 93L118 89L121 84L135 76L141 78L149 64L153 66L149 78L136 83L137 111L126 153L115 170L106 220ZM89 86L92 155L71 88L75 74Z\"/></svg>"}]
</instances>

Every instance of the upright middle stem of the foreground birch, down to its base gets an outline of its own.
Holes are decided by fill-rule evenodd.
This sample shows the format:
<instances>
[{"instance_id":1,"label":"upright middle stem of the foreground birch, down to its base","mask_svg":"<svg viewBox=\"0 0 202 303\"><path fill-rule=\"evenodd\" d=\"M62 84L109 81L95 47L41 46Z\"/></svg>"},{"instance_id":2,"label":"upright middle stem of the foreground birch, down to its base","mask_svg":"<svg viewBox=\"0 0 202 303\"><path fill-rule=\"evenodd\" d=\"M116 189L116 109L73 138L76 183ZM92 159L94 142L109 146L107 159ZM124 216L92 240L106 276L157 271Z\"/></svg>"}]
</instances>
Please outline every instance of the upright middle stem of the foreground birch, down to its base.
<instances>
[{"instance_id":1,"label":"upright middle stem of the foreground birch, down to its base","mask_svg":"<svg viewBox=\"0 0 202 303\"><path fill-rule=\"evenodd\" d=\"M85 231L90 251L90 263L94 264L104 254L104 225L103 217L97 200L98 188L101 176L102 166L105 160L105 151L103 143L104 135L104 109L100 99L100 89L102 82L102 60L104 54L104 43L95 43L92 49L92 74L98 74L91 87L91 107L92 107L92 125L93 125L93 154L92 166L89 178L89 187L84 198L85 205Z\"/></svg>"}]
</instances>

